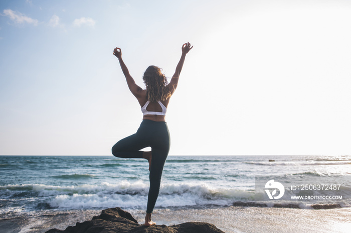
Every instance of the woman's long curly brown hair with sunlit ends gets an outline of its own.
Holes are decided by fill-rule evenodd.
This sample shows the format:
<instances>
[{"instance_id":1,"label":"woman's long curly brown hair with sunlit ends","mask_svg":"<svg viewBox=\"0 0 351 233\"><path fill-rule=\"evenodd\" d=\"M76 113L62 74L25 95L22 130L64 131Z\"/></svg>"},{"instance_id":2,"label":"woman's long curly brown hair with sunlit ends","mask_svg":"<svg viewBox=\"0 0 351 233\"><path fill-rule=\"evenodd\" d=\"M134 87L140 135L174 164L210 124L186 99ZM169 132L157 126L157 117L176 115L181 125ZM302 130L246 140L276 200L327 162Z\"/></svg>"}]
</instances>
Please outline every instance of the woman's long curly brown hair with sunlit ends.
<instances>
[{"instance_id":1,"label":"woman's long curly brown hair with sunlit ends","mask_svg":"<svg viewBox=\"0 0 351 233\"><path fill-rule=\"evenodd\" d=\"M166 76L157 66L150 65L144 72L142 77L146 86L146 96L150 102L157 100L166 100L171 95L171 89L167 85Z\"/></svg>"}]
</instances>

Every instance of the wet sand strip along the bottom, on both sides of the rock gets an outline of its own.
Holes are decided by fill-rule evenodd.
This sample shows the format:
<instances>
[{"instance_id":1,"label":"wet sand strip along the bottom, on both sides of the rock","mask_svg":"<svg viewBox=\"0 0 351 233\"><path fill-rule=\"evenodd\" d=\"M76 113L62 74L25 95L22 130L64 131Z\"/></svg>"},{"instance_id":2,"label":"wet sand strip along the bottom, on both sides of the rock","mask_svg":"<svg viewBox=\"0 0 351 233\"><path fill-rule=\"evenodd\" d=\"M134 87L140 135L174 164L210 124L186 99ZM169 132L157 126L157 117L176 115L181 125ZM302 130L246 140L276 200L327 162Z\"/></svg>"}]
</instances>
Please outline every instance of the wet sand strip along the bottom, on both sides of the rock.
<instances>
[{"instance_id":1,"label":"wet sand strip along the bottom, on both sides of the rock","mask_svg":"<svg viewBox=\"0 0 351 233\"><path fill-rule=\"evenodd\" d=\"M143 223L144 211L129 211ZM42 210L12 217L1 216L2 232L45 232L65 229L77 221L90 220L101 210ZM4 219L5 218L5 219ZM225 232L349 232L351 208L295 209L270 207L213 207L207 209L155 209L156 224L173 225L187 221L215 224Z\"/></svg>"}]
</instances>

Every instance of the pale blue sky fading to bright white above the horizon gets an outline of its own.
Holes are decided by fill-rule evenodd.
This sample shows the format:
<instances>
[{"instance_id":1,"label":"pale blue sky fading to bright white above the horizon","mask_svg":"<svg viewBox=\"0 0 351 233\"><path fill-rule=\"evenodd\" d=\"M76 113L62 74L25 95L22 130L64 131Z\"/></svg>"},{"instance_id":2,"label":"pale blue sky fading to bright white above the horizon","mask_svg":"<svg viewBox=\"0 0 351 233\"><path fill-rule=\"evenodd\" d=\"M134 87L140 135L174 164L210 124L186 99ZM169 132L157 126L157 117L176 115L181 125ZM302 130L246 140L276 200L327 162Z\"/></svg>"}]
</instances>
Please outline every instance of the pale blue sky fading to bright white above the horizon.
<instances>
[{"instance_id":1,"label":"pale blue sky fading to bright white above the horizon","mask_svg":"<svg viewBox=\"0 0 351 233\"><path fill-rule=\"evenodd\" d=\"M351 154L348 0L0 0L0 155L111 155L171 77L170 155ZM146 148L147 149L147 148Z\"/></svg>"}]
</instances>

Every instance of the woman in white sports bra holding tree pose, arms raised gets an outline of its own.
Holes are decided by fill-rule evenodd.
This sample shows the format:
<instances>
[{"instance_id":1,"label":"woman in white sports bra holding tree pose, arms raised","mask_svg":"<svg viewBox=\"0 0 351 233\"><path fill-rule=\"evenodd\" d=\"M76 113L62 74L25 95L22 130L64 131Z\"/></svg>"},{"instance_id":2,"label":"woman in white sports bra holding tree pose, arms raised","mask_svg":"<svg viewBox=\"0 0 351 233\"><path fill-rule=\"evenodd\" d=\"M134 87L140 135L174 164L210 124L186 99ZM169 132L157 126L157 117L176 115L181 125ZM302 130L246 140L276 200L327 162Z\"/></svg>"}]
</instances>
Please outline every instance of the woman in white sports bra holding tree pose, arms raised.
<instances>
[{"instance_id":1,"label":"woman in white sports bra holding tree pose, arms raised","mask_svg":"<svg viewBox=\"0 0 351 233\"><path fill-rule=\"evenodd\" d=\"M127 80L129 90L138 100L143 113L142 122L137 132L121 139L112 147L112 154L122 158L146 158L149 162L150 188L147 199L147 208L144 225L153 225L151 213L155 206L161 183L161 175L164 162L167 158L170 140L165 113L170 96L178 85L178 78L182 71L186 54L192 49L190 43L182 46L182 56L175 68L175 72L167 84L167 78L161 73L159 67L150 65L142 77L146 89L140 88L129 74L127 66L122 60L122 52L119 47L113 50L118 58L123 74ZM151 147L151 151L141 151L145 147Z\"/></svg>"}]
</instances>

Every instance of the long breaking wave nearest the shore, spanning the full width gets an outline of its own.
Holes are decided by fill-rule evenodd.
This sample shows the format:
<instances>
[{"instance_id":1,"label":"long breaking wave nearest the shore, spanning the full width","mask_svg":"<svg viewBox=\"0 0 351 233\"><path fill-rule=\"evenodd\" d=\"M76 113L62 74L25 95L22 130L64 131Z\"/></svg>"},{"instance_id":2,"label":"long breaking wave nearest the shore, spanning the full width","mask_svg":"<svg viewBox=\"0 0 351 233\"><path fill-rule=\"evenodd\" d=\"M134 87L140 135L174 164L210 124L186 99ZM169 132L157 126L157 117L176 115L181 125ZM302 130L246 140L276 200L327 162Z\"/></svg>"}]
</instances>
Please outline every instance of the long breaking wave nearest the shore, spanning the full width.
<instances>
[{"instance_id":1,"label":"long breaking wave nearest the shore, spanning the full width","mask_svg":"<svg viewBox=\"0 0 351 233\"><path fill-rule=\"evenodd\" d=\"M145 208L148 195L148 182L138 180L118 183L84 184L84 185L45 185L22 184L0 186L1 199L19 200L22 208L33 206L42 208L107 208L128 207ZM347 189L349 191L349 189ZM346 191L347 191L346 190ZM344 190L345 191L345 190ZM15 195L15 193L17 193ZM207 206L258 206L291 208L331 208L350 207L344 200L333 203L302 203L292 200L256 201L254 190L237 188L215 188L205 183L162 184L155 207L207 207ZM5 210L4 210L5 211Z\"/></svg>"}]
</instances>

